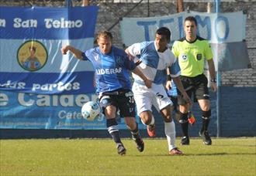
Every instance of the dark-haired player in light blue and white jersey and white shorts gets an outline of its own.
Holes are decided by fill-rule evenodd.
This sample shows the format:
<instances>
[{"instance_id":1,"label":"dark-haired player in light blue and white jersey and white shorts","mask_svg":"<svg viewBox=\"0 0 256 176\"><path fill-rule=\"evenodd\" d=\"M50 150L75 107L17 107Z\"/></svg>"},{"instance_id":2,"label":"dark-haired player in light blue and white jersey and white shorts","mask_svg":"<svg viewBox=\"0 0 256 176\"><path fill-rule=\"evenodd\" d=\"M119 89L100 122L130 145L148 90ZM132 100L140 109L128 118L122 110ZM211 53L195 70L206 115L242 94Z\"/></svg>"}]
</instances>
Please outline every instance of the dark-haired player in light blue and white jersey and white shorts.
<instances>
[{"instance_id":1,"label":"dark-haired player in light blue and white jersey and white shorts","mask_svg":"<svg viewBox=\"0 0 256 176\"><path fill-rule=\"evenodd\" d=\"M175 147L175 123L171 118L171 100L163 86L163 83L166 83L166 69L168 66L171 67L171 76L185 100L190 102L190 99L179 80L178 62L176 62L171 49L168 49L170 39L170 30L161 27L157 29L154 41L135 43L126 49L126 53L130 57L135 57L135 62L137 62L137 57L140 58L139 69L153 82L152 87L148 88L138 76L133 75L133 93L137 113L140 115L142 122L147 125L149 136L155 136L154 117L151 110L152 105L154 105L164 118L164 132L168 140L169 154L182 154L182 151Z\"/></svg>"}]
</instances>

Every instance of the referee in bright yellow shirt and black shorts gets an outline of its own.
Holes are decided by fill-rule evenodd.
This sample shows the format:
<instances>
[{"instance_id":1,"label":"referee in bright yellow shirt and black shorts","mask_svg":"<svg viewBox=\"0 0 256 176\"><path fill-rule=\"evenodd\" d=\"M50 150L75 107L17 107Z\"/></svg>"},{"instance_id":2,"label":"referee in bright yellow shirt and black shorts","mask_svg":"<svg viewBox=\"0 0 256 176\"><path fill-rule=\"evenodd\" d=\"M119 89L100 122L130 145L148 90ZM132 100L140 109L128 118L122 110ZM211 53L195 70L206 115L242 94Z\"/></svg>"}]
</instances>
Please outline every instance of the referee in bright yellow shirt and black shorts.
<instances>
[{"instance_id":1,"label":"referee in bright yellow shirt and black shorts","mask_svg":"<svg viewBox=\"0 0 256 176\"><path fill-rule=\"evenodd\" d=\"M191 97L194 94L202 110L202 129L199 136L202 137L203 144L210 145L212 140L209 137L208 125L211 117L209 90L207 87L208 80L203 74L205 60L209 66L211 76L211 90L216 91L215 66L213 63L213 52L209 42L196 36L197 22L193 16L189 16L184 22L185 37L175 41L172 46L172 52L178 58L178 64L181 67L181 80L184 89ZM179 93L179 92L178 92ZM180 94L180 93L179 93ZM189 145L189 122L188 112L189 104L185 103L182 98L178 100L181 113L182 124L182 145Z\"/></svg>"}]
</instances>

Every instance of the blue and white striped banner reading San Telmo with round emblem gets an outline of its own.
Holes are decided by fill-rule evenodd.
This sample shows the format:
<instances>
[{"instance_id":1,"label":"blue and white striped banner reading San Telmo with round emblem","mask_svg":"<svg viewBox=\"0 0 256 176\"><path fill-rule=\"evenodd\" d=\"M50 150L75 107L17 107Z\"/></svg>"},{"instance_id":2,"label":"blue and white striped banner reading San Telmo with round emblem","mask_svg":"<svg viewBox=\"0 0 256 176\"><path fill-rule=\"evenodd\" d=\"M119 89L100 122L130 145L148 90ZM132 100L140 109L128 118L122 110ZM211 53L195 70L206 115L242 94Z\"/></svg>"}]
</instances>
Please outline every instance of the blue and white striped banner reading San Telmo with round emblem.
<instances>
[{"instance_id":1,"label":"blue and white striped banner reading San Telmo with round emblem","mask_svg":"<svg viewBox=\"0 0 256 176\"><path fill-rule=\"evenodd\" d=\"M92 48L99 7L0 7L0 90L93 93L91 63L61 47Z\"/></svg>"}]
</instances>

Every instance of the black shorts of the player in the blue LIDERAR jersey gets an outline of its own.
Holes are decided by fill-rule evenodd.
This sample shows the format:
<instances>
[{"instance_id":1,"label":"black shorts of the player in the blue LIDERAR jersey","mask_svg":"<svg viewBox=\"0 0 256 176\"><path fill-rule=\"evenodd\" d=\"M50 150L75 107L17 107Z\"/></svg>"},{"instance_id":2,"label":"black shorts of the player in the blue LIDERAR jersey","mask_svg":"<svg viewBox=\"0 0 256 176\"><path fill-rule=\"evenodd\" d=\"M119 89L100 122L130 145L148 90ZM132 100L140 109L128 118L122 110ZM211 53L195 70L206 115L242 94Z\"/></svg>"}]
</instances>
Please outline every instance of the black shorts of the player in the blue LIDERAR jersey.
<instances>
[{"instance_id":1,"label":"black shorts of the player in the blue LIDERAR jersey","mask_svg":"<svg viewBox=\"0 0 256 176\"><path fill-rule=\"evenodd\" d=\"M135 100L131 90L115 90L112 92L102 93L99 97L99 104L103 112L106 107L112 105L119 110L120 117L135 117Z\"/></svg>"}]
</instances>

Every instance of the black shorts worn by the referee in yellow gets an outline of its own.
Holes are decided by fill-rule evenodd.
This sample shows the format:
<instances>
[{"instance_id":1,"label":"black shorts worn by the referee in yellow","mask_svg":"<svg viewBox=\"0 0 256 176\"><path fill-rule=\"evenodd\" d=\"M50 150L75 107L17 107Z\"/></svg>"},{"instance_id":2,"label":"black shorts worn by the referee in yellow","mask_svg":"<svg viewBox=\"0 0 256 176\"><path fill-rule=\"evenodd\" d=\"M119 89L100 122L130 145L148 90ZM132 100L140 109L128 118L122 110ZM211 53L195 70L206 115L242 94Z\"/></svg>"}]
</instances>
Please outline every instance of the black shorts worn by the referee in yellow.
<instances>
[{"instance_id":1,"label":"black shorts worn by the referee in yellow","mask_svg":"<svg viewBox=\"0 0 256 176\"><path fill-rule=\"evenodd\" d=\"M193 96L195 102L197 100L209 100L208 80L204 74L195 77L180 76L180 79L185 91L190 98ZM179 91L178 95L181 95ZM184 103L185 101L179 96L178 104Z\"/></svg>"}]
</instances>

